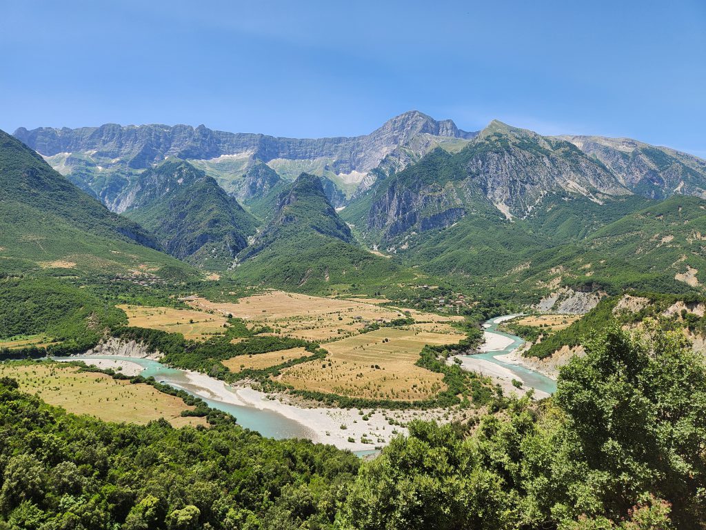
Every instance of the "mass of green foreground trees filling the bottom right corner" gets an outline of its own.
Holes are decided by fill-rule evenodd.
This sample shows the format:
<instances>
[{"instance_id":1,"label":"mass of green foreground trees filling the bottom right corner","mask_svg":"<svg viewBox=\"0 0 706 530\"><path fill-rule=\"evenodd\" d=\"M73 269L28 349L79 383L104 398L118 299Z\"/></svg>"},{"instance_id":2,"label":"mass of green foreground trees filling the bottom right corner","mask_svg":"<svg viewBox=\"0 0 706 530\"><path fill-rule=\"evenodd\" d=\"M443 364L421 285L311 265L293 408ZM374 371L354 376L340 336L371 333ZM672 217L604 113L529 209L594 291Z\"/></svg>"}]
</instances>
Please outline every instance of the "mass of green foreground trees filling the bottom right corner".
<instances>
[{"instance_id":1,"label":"mass of green foreground trees filling the bottom right corner","mask_svg":"<svg viewBox=\"0 0 706 530\"><path fill-rule=\"evenodd\" d=\"M342 529L701 529L706 367L678 334L587 343L541 406L467 435L412 423L365 464Z\"/></svg>"}]
</instances>

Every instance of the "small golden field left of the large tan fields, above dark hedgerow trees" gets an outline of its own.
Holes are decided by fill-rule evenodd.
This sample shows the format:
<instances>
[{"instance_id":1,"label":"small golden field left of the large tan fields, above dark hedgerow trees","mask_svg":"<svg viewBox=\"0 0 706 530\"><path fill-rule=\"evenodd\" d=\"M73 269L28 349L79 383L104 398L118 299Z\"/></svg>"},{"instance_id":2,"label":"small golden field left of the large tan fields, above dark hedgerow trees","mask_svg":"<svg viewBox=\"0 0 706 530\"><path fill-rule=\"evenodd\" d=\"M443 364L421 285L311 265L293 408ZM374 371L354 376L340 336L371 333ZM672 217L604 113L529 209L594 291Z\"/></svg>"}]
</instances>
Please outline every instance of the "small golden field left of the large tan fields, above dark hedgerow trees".
<instances>
[{"instance_id":1,"label":"small golden field left of the large tan fields, above dark hedgerow trees","mask_svg":"<svg viewBox=\"0 0 706 530\"><path fill-rule=\"evenodd\" d=\"M119 305L117 307L126 312L131 326L181 333L184 338L196 341L214 335L222 335L225 332L223 326L227 322L227 318L222 314L209 314L197 310L141 305Z\"/></svg>"}]
</instances>

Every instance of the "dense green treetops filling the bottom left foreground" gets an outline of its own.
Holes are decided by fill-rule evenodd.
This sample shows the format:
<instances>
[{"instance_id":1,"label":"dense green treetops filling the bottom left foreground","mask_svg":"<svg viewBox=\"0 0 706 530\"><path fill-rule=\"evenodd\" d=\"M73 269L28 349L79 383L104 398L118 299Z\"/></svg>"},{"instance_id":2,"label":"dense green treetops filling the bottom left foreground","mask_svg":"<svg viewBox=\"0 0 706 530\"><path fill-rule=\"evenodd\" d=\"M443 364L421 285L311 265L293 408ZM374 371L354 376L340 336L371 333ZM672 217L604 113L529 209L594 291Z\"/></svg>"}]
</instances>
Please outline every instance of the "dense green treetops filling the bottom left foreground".
<instances>
[{"instance_id":1,"label":"dense green treetops filling the bottom left foreground","mask_svg":"<svg viewBox=\"0 0 706 530\"><path fill-rule=\"evenodd\" d=\"M0 527L330 528L359 460L222 423L68 415L0 381Z\"/></svg>"}]
</instances>

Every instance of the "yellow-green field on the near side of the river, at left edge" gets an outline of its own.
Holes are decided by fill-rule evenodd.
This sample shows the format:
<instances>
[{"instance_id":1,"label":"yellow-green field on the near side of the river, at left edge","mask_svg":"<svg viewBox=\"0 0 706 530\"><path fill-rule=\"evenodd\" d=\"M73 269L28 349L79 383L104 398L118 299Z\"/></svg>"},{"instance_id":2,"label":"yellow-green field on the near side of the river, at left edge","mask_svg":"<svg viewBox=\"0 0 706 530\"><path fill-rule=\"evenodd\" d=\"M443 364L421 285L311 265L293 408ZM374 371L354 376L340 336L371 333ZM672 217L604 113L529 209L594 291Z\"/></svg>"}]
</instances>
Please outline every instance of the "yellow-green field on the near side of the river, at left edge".
<instances>
[{"instance_id":1,"label":"yellow-green field on the near side of the river, at left edge","mask_svg":"<svg viewBox=\"0 0 706 530\"><path fill-rule=\"evenodd\" d=\"M16 379L20 390L36 394L48 404L104 421L145 424L165 418L174 427L206 425L204 418L182 418L181 411L194 407L177 396L163 394L148 384L78 372L73 366L4 363L0 364L0 377Z\"/></svg>"}]
</instances>

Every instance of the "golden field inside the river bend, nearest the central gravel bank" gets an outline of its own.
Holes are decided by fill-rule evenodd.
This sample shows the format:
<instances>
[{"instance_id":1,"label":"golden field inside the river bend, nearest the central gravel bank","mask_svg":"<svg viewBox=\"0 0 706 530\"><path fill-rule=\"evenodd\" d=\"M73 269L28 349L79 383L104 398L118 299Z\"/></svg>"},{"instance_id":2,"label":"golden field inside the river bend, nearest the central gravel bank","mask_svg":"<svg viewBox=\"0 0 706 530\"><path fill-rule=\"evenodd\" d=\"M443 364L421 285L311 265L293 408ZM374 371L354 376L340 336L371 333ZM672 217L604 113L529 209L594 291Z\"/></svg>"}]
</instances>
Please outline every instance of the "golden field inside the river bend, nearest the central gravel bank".
<instances>
[{"instance_id":1,"label":"golden field inside the river bend, nearest the central gravel bank","mask_svg":"<svg viewBox=\"0 0 706 530\"><path fill-rule=\"evenodd\" d=\"M448 324L447 324L448 325ZM325 360L302 363L278 380L297 389L343 396L411 401L445 389L443 375L416 366L426 344L457 343L464 335L418 329L383 328L324 344Z\"/></svg>"}]
</instances>

